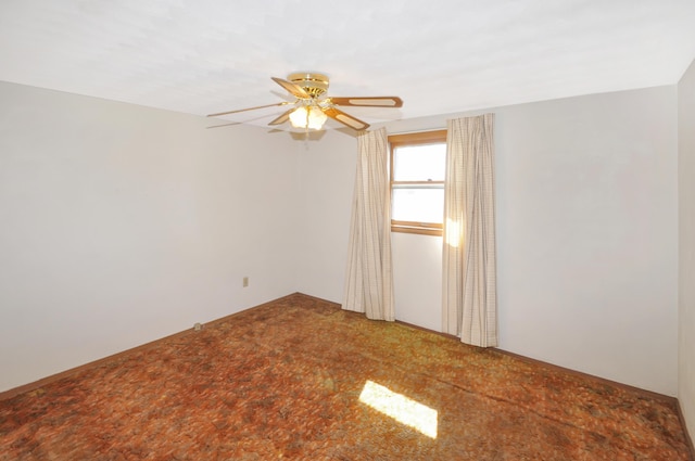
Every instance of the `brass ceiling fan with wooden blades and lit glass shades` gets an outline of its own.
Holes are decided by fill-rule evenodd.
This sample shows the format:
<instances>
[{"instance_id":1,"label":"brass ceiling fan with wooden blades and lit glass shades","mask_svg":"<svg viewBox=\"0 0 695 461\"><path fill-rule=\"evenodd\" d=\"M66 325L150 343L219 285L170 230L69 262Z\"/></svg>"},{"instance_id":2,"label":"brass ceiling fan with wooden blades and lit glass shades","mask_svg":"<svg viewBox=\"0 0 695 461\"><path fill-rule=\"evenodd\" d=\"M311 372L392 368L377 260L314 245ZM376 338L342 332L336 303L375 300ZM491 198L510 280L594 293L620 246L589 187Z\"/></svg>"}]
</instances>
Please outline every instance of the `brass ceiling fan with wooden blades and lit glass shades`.
<instances>
[{"instance_id":1,"label":"brass ceiling fan with wooden blades and lit glass shades","mask_svg":"<svg viewBox=\"0 0 695 461\"><path fill-rule=\"evenodd\" d=\"M369 124L344 113L337 106L363 106L363 107L401 107L403 101L397 97L361 97L361 98L333 98L325 97L328 91L329 79L324 74L300 72L290 74L286 79L270 77L273 81L285 88L293 98L293 102L282 101L276 104L258 105L255 107L240 108L237 111L210 114L208 117L236 114L257 108L291 105L279 117L268 125L281 125L286 121L295 128L319 130L328 117L354 129L364 130ZM218 127L224 125L217 125ZM211 127L215 128L215 127Z\"/></svg>"}]
</instances>

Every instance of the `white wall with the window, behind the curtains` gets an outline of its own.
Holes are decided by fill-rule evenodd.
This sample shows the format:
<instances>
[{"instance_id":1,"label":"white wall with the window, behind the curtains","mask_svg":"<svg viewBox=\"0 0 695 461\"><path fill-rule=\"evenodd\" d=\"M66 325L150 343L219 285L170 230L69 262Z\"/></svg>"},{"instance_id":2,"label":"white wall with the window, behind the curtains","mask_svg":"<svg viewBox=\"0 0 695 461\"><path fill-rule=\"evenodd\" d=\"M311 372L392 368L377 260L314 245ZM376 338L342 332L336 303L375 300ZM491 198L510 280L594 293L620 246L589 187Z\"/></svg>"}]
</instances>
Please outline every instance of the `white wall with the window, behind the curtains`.
<instances>
[{"instance_id":1,"label":"white wall with the window, behind the curtains","mask_svg":"<svg viewBox=\"0 0 695 461\"><path fill-rule=\"evenodd\" d=\"M674 396L675 87L490 112L496 114L501 348ZM387 128L441 129L453 116ZM327 165L315 166L304 181L329 170L337 180ZM351 184L354 165L342 175L341 182ZM326 220L320 232L342 232L342 226ZM440 330L441 274L434 267L441 249L428 236L392 241L396 318ZM321 270L342 274L329 259ZM421 268L414 268L416 260ZM344 261L337 257L336 264ZM323 296L340 300L338 289Z\"/></svg>"}]
</instances>

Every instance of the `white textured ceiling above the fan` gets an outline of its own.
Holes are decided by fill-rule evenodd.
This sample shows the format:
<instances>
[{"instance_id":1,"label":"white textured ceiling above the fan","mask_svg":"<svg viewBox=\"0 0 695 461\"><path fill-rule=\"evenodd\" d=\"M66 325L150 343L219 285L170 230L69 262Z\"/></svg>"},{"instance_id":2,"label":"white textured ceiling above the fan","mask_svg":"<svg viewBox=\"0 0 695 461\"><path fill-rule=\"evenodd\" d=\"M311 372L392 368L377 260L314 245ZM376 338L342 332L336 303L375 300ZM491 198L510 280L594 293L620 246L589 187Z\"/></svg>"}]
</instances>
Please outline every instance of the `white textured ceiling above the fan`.
<instances>
[{"instance_id":1,"label":"white textured ceiling above the fan","mask_svg":"<svg viewBox=\"0 0 695 461\"><path fill-rule=\"evenodd\" d=\"M672 85L694 57L695 0L0 0L0 80L198 115L298 71L403 98L346 110L375 123Z\"/></svg>"}]
</instances>

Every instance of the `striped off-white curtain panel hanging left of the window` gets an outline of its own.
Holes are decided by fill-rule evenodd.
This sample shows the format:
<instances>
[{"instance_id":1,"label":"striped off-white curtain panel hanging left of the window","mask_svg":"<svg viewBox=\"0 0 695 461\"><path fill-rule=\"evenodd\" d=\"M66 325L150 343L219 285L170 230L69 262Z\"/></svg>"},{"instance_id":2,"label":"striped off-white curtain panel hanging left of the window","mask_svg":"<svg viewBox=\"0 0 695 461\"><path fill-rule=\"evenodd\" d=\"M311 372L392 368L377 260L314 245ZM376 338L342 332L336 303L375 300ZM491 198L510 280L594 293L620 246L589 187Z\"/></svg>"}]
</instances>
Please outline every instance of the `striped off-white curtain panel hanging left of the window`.
<instances>
[{"instance_id":1,"label":"striped off-white curtain panel hanging left of the window","mask_svg":"<svg viewBox=\"0 0 695 461\"><path fill-rule=\"evenodd\" d=\"M357 138L357 174L343 309L395 320L391 270L391 190L387 130Z\"/></svg>"}]
</instances>

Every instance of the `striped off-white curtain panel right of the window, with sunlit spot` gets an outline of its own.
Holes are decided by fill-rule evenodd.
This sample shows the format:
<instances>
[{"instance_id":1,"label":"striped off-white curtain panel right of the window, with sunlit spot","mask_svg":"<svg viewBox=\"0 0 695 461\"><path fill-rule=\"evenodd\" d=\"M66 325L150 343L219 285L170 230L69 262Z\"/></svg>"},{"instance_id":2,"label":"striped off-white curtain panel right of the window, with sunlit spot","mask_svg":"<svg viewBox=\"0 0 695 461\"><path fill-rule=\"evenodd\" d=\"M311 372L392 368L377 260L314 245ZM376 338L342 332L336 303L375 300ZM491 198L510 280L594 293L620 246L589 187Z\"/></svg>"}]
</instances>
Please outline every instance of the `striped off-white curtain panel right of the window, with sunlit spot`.
<instances>
[{"instance_id":1,"label":"striped off-white curtain panel right of the window, with sunlit spot","mask_svg":"<svg viewBox=\"0 0 695 461\"><path fill-rule=\"evenodd\" d=\"M494 114L447 121L442 331L497 346Z\"/></svg>"}]
</instances>

